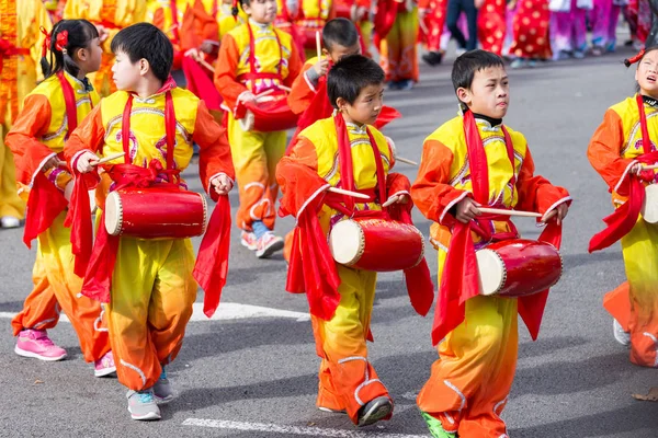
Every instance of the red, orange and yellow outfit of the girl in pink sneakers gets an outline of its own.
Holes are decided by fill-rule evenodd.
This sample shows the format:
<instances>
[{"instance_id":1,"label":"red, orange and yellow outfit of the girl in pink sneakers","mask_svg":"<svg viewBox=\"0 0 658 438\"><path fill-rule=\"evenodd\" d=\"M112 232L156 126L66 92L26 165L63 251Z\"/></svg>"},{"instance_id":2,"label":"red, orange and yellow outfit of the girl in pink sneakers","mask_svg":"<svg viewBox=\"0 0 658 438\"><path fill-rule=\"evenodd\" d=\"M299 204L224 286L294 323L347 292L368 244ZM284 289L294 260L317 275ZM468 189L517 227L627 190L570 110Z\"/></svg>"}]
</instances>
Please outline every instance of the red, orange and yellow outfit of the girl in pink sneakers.
<instances>
[{"instance_id":1,"label":"red, orange and yellow outfit of the girl in pink sneakers","mask_svg":"<svg viewBox=\"0 0 658 438\"><path fill-rule=\"evenodd\" d=\"M7 135L7 143L14 153L19 184L30 196L37 196L36 200L29 200L25 231L31 235L26 235L27 240L38 232L34 289L25 299L23 310L12 320L12 326L14 335L23 328L52 328L64 310L78 334L84 360L93 361L110 350L110 341L107 328L101 325L100 303L80 295L82 279L73 274L70 228L64 227L68 204L64 191L72 177L66 168L54 168L45 173L42 169L54 157L64 159L69 128L81 122L100 99L82 81L68 73L59 74L49 77L27 95L24 110ZM72 102L67 102L61 81L68 84ZM73 125L68 123L67 106L76 112ZM33 229L31 216L41 215L44 208L35 201L59 205L58 211L45 215L48 219L41 218L50 222L49 227Z\"/></svg>"}]
</instances>

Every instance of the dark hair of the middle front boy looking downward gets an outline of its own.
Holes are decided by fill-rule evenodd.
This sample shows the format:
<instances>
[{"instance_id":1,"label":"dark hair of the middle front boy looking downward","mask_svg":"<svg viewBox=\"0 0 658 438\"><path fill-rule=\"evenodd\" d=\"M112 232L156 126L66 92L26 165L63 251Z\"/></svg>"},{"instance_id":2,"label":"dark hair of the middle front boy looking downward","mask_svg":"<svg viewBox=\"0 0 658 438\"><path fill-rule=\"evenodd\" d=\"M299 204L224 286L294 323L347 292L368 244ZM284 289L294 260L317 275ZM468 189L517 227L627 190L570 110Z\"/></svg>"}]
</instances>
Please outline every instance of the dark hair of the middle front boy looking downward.
<instances>
[{"instance_id":1,"label":"dark hair of the middle front boy looking downward","mask_svg":"<svg viewBox=\"0 0 658 438\"><path fill-rule=\"evenodd\" d=\"M382 67L363 55L349 55L336 62L327 76L327 94L331 105L338 110L336 101L344 99L350 105L356 101L361 90L367 85L384 82Z\"/></svg>"}]
</instances>

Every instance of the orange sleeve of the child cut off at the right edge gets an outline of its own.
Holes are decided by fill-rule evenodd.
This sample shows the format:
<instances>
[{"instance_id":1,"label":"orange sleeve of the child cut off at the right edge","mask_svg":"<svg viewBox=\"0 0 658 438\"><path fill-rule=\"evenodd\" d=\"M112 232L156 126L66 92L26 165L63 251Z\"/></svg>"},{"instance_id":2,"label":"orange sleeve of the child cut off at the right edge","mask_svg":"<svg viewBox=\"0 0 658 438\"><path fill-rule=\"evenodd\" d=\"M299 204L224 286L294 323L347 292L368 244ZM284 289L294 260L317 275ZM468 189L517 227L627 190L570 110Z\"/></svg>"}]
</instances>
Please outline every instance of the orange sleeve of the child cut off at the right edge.
<instances>
[{"instance_id":1,"label":"orange sleeve of the child cut off at the right edge","mask_svg":"<svg viewBox=\"0 0 658 438\"><path fill-rule=\"evenodd\" d=\"M587 149L587 158L605 183L613 189L626 174L632 159L622 158L624 128L614 110L608 110Z\"/></svg>"}]
</instances>

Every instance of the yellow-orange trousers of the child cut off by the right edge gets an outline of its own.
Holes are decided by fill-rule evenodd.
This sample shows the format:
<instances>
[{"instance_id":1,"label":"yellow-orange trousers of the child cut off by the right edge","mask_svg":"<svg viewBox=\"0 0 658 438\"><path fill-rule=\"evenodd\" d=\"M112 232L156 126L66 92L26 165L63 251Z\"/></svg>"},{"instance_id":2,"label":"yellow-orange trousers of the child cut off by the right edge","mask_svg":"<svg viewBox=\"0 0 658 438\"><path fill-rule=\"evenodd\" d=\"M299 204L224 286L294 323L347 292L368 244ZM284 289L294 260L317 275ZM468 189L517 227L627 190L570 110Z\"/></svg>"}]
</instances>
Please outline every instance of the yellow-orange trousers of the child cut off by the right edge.
<instances>
[{"instance_id":1,"label":"yellow-orange trousers of the child cut off by the right edge","mask_svg":"<svg viewBox=\"0 0 658 438\"><path fill-rule=\"evenodd\" d=\"M631 361L658 368L658 226L639 219L622 238L631 287Z\"/></svg>"}]
</instances>

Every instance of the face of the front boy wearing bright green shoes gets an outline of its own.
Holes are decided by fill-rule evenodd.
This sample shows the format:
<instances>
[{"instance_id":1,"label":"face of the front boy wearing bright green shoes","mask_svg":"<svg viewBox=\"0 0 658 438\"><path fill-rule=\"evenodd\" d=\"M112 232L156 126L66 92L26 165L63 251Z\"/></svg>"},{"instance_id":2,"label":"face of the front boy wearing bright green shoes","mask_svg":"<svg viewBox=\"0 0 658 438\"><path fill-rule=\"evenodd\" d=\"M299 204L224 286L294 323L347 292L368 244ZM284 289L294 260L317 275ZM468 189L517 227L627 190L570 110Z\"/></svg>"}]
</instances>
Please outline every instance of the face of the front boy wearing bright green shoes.
<instances>
[{"instance_id":1,"label":"face of the front boy wearing bright green shoes","mask_svg":"<svg viewBox=\"0 0 658 438\"><path fill-rule=\"evenodd\" d=\"M488 67L475 72L470 89L457 89L457 96L472 112L503 118L510 104L510 84L503 67Z\"/></svg>"}]
</instances>

